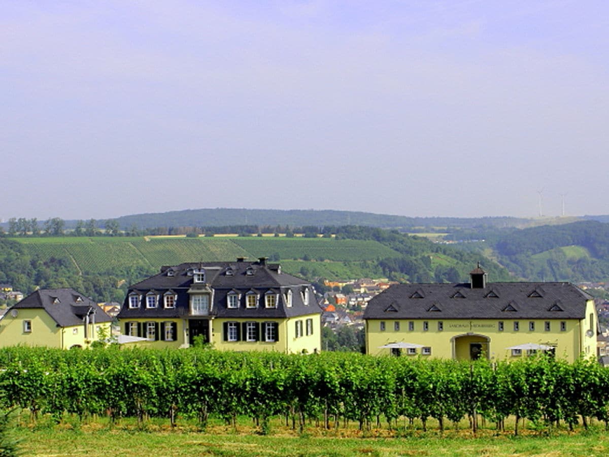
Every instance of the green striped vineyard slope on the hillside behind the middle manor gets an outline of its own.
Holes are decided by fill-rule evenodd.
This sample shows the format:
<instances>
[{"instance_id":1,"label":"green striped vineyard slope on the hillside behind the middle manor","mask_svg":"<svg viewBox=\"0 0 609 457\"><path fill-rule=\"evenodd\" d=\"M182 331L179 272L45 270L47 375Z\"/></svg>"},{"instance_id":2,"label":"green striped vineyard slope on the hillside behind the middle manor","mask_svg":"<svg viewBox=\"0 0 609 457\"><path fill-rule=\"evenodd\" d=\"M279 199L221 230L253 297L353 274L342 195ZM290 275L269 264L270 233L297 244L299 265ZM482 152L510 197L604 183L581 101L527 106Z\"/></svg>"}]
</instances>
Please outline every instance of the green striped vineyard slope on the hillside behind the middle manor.
<instances>
[{"instance_id":1,"label":"green striped vineyard slope on the hillside behind the middle manor","mask_svg":"<svg viewBox=\"0 0 609 457\"><path fill-rule=\"evenodd\" d=\"M192 261L226 261L245 257L279 258L284 271L303 266L315 277L355 278L380 273L375 260L399 253L371 240L333 238L184 238L61 237L17 238L43 260L66 259L82 272L108 272L126 267L152 267ZM311 261L303 261L308 259Z\"/></svg>"}]
</instances>

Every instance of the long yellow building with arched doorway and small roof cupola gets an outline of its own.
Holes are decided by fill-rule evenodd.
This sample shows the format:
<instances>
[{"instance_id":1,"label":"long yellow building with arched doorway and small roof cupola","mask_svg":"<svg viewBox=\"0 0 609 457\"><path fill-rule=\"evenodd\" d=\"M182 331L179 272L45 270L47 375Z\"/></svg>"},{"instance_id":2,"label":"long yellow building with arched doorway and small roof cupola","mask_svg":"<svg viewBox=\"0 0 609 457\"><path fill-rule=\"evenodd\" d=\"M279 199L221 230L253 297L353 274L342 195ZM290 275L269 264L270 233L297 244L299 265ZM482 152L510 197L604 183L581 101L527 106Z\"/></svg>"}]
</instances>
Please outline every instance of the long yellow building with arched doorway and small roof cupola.
<instances>
[{"instance_id":1,"label":"long yellow building with arched doorway and small roof cupola","mask_svg":"<svg viewBox=\"0 0 609 457\"><path fill-rule=\"evenodd\" d=\"M366 352L475 360L538 351L574 361L596 356L594 300L571 283L393 285L364 312Z\"/></svg>"}]
</instances>

